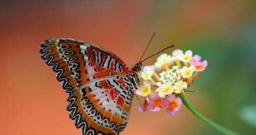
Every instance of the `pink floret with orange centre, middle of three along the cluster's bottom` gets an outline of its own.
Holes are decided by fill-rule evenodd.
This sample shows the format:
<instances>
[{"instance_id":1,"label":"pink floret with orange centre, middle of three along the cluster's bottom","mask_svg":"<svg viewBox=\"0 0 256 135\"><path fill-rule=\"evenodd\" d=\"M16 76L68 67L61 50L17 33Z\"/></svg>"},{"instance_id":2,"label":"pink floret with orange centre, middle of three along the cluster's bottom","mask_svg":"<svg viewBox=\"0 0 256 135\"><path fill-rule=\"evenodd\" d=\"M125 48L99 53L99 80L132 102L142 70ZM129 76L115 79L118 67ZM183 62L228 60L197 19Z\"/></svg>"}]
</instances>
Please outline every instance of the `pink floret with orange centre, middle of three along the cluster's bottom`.
<instances>
[{"instance_id":1,"label":"pink floret with orange centre, middle of three along the cluster's bottom","mask_svg":"<svg viewBox=\"0 0 256 135\"><path fill-rule=\"evenodd\" d=\"M164 99L155 93L150 96L150 109L151 111L159 111L164 106Z\"/></svg>"}]
</instances>

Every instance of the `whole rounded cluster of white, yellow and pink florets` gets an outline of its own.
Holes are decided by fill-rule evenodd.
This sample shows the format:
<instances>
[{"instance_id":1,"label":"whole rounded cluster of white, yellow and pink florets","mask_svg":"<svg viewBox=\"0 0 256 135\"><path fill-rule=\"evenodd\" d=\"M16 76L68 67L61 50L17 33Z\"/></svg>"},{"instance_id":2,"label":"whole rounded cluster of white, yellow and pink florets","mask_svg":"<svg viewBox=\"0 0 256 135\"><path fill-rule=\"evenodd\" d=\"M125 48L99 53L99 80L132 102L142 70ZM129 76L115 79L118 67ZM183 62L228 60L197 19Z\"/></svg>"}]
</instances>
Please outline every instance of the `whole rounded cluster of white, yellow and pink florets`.
<instances>
[{"instance_id":1,"label":"whole rounded cluster of white, yellow and pink florets","mask_svg":"<svg viewBox=\"0 0 256 135\"><path fill-rule=\"evenodd\" d=\"M146 98L138 110L159 111L166 107L169 114L174 114L182 104L179 96L185 95L187 87L206 66L207 61L201 61L201 56L193 55L191 50L184 53L176 49L172 55L161 54L154 65L145 66L141 72L145 81L135 92ZM157 88L152 90L151 85Z\"/></svg>"}]
</instances>

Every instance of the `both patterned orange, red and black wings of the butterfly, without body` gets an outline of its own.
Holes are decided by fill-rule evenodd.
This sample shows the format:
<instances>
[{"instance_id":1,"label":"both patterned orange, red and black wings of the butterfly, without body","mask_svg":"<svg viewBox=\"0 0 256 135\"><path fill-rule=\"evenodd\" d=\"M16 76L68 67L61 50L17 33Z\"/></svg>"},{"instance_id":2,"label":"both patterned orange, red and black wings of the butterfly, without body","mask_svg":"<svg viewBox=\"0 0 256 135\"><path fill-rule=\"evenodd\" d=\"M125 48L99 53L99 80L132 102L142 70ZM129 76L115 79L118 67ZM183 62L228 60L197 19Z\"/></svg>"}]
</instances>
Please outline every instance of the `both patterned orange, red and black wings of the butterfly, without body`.
<instances>
[{"instance_id":1,"label":"both patterned orange, red and black wings of the butterfly, without body","mask_svg":"<svg viewBox=\"0 0 256 135\"><path fill-rule=\"evenodd\" d=\"M124 62L85 41L56 38L40 53L69 93L68 111L83 134L118 134L129 118L133 92Z\"/></svg>"}]
</instances>

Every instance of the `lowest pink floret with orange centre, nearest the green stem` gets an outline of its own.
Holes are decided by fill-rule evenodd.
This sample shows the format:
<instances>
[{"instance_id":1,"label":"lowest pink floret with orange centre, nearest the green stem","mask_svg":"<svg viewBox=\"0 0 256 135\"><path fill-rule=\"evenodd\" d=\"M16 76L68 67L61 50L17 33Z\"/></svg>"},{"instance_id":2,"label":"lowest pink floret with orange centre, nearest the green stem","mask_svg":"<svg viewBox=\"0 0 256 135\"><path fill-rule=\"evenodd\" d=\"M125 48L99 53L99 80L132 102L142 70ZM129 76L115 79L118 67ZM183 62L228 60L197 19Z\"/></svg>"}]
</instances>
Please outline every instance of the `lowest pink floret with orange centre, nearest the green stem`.
<instances>
[{"instance_id":1,"label":"lowest pink floret with orange centre, nearest the green stem","mask_svg":"<svg viewBox=\"0 0 256 135\"><path fill-rule=\"evenodd\" d=\"M175 94L168 96L164 102L166 105L166 111L171 115L175 114L182 104L181 98L179 96L176 97Z\"/></svg>"}]
</instances>

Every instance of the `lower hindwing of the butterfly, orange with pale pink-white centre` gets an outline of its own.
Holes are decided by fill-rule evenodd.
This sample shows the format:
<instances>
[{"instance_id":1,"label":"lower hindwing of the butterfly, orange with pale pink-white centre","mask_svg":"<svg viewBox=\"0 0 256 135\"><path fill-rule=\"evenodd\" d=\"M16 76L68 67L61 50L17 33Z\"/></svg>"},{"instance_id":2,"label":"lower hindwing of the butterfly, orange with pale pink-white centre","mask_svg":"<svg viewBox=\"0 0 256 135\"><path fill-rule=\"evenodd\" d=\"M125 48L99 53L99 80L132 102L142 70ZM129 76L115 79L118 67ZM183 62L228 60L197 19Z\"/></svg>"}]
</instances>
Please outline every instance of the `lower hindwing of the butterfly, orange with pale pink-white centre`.
<instances>
[{"instance_id":1,"label":"lower hindwing of the butterfly, orange with pale pink-white centre","mask_svg":"<svg viewBox=\"0 0 256 135\"><path fill-rule=\"evenodd\" d=\"M68 110L77 127L85 133L118 134L129 118L133 92L126 76L111 76L89 82L70 95ZM81 121L85 121L81 126ZM85 128L83 128L85 127Z\"/></svg>"}]
</instances>

